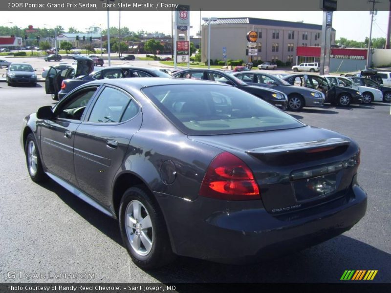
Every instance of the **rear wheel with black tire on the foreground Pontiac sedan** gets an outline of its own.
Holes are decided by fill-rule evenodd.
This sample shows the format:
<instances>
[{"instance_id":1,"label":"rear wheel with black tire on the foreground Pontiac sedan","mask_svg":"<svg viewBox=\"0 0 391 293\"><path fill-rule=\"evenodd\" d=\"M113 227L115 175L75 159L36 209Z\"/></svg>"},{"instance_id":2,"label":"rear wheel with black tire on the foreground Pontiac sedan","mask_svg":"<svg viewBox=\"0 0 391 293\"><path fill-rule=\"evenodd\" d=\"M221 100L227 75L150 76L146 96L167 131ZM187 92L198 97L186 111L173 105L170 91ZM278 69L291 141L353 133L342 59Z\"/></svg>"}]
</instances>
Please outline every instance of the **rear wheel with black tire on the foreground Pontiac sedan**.
<instances>
[{"instance_id":1,"label":"rear wheel with black tire on the foreground Pontiac sedan","mask_svg":"<svg viewBox=\"0 0 391 293\"><path fill-rule=\"evenodd\" d=\"M138 267L154 269L174 260L163 214L144 186L125 191L119 208L119 226L125 247Z\"/></svg>"}]
</instances>

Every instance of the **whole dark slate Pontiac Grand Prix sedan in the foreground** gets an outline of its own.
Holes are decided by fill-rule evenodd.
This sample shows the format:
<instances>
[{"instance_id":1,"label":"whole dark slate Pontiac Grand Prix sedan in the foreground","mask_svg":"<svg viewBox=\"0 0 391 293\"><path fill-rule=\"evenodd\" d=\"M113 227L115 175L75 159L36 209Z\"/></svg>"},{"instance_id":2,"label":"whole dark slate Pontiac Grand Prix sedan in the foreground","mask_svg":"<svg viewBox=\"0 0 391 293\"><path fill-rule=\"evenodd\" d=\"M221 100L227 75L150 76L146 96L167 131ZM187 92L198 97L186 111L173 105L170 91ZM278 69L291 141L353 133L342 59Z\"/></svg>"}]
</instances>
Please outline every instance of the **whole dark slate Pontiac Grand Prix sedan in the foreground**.
<instances>
[{"instance_id":1,"label":"whole dark slate Pontiac Grand Prix sedan in the foreground","mask_svg":"<svg viewBox=\"0 0 391 293\"><path fill-rule=\"evenodd\" d=\"M21 141L31 179L118 219L145 269L175 255L241 263L300 250L367 207L354 141L226 84L97 80L26 116Z\"/></svg>"}]
</instances>

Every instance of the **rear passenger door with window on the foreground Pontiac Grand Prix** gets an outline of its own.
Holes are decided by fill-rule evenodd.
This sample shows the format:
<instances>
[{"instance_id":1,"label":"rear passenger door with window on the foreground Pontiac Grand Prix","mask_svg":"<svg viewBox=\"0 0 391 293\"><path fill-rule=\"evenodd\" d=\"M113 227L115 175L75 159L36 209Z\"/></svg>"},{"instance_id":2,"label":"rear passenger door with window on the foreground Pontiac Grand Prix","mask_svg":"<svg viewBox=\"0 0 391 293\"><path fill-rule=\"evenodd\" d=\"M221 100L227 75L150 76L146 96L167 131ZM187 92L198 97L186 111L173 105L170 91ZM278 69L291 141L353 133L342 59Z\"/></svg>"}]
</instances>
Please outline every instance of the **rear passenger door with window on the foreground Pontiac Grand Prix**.
<instances>
[{"instance_id":1,"label":"rear passenger door with window on the foreground Pontiac Grand Prix","mask_svg":"<svg viewBox=\"0 0 391 293\"><path fill-rule=\"evenodd\" d=\"M91 107L75 135L75 173L79 187L109 208L112 180L142 123L141 107L129 93L109 86Z\"/></svg>"}]
</instances>

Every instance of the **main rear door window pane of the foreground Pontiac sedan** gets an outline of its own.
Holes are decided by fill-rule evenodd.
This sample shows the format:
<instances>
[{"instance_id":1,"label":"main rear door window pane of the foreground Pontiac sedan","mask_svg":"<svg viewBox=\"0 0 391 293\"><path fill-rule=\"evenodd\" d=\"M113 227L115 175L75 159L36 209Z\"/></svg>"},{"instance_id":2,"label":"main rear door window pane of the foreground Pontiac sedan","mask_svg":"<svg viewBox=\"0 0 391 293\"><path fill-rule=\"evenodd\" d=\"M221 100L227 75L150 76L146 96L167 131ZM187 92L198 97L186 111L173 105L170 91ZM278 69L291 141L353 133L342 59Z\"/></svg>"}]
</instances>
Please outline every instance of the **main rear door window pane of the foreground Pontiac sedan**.
<instances>
[{"instance_id":1,"label":"main rear door window pane of the foreground Pontiac sedan","mask_svg":"<svg viewBox=\"0 0 391 293\"><path fill-rule=\"evenodd\" d=\"M130 96L124 92L106 87L92 108L88 122L118 123L130 103Z\"/></svg>"}]
</instances>

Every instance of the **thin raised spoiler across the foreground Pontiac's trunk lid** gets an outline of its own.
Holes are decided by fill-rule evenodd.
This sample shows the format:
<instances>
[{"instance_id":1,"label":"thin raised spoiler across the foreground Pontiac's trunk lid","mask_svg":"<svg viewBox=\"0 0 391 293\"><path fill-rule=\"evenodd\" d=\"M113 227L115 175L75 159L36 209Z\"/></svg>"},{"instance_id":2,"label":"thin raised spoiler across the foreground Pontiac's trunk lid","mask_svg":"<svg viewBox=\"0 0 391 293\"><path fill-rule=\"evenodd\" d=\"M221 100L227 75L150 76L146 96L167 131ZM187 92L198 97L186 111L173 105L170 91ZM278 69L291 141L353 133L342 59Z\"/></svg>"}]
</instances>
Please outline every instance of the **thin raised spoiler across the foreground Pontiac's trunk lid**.
<instances>
[{"instance_id":1,"label":"thin raised spoiler across the foreground Pontiac's trunk lid","mask_svg":"<svg viewBox=\"0 0 391 293\"><path fill-rule=\"evenodd\" d=\"M294 152L320 152L329 149L333 149L337 146L348 146L350 144L350 140L343 138L327 138L321 139L311 142L301 142L301 143L293 143L286 145L278 145L278 146L265 146L258 147L254 149L246 150L246 153L253 155L282 155L286 153L294 153Z\"/></svg>"}]
</instances>

